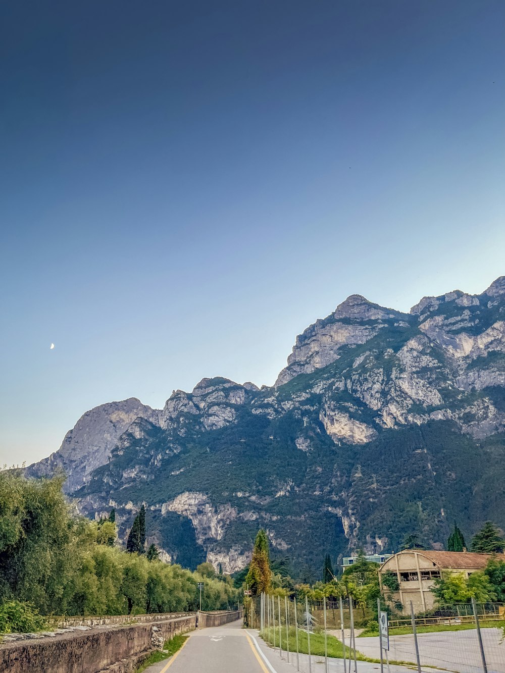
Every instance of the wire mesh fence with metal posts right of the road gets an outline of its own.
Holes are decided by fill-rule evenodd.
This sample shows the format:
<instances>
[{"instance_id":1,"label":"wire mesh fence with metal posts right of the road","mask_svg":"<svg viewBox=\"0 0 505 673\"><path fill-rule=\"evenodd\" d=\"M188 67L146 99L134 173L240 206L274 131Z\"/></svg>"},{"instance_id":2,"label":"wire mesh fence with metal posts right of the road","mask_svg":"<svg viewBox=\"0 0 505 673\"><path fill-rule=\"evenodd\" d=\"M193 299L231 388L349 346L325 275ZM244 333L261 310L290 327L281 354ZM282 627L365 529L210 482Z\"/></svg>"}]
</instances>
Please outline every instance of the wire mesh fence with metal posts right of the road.
<instances>
[{"instance_id":1,"label":"wire mesh fence with metal posts right of the road","mask_svg":"<svg viewBox=\"0 0 505 673\"><path fill-rule=\"evenodd\" d=\"M505 673L502 606L473 602L449 612L392 620L382 651L378 635L362 635L362 608L351 599L314 603L261 594L246 600L244 623L304 673L358 673L360 661L384 671L403 664L418 673Z\"/></svg>"}]
</instances>

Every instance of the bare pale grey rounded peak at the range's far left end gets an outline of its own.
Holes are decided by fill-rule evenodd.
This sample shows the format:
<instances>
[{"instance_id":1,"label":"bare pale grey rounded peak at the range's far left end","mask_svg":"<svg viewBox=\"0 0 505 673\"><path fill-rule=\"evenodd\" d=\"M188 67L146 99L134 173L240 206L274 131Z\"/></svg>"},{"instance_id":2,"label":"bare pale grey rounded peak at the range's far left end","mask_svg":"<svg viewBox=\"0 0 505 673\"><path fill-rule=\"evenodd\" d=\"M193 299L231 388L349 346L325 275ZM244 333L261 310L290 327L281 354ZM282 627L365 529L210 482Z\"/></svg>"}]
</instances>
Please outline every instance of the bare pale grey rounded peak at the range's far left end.
<instances>
[{"instance_id":1,"label":"bare pale grey rounded peak at the range's far left end","mask_svg":"<svg viewBox=\"0 0 505 673\"><path fill-rule=\"evenodd\" d=\"M106 464L112 448L136 419L158 423L158 415L158 411L135 397L100 404L81 416L65 435L58 451L30 465L26 474L43 476L61 468L67 474L64 489L71 493L86 483L88 474Z\"/></svg>"}]
</instances>

